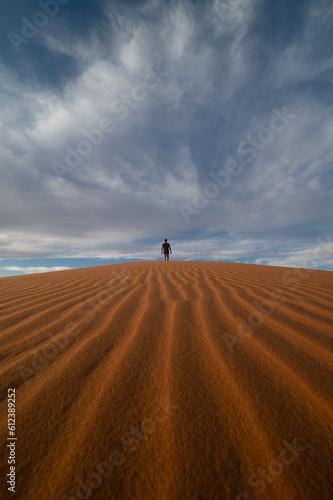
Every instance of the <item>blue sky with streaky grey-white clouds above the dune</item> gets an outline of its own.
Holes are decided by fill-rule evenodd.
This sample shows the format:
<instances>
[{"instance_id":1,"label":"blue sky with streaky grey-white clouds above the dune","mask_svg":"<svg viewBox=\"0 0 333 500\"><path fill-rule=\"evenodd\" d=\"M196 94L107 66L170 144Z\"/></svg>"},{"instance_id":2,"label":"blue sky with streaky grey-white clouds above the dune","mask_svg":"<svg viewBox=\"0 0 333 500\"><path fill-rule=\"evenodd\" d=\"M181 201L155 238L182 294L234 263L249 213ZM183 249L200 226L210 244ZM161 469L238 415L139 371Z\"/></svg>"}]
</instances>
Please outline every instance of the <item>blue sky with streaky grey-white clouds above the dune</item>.
<instances>
[{"instance_id":1,"label":"blue sky with streaky grey-white clouds above the dune","mask_svg":"<svg viewBox=\"0 0 333 500\"><path fill-rule=\"evenodd\" d=\"M0 5L0 276L333 270L329 0Z\"/></svg>"}]
</instances>

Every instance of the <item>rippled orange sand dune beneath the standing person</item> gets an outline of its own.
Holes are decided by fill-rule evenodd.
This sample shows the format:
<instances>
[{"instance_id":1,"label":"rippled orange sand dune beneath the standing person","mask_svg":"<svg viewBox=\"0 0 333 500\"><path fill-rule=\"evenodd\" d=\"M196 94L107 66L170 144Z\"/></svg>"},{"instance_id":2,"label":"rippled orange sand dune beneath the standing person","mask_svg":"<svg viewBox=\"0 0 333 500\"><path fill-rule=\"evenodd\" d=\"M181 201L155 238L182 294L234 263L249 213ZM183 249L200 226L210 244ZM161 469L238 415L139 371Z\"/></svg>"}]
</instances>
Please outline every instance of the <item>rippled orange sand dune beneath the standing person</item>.
<instances>
[{"instance_id":1,"label":"rippled orange sand dune beneath the standing person","mask_svg":"<svg viewBox=\"0 0 333 500\"><path fill-rule=\"evenodd\" d=\"M332 498L332 285L177 261L1 278L1 498Z\"/></svg>"}]
</instances>

